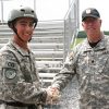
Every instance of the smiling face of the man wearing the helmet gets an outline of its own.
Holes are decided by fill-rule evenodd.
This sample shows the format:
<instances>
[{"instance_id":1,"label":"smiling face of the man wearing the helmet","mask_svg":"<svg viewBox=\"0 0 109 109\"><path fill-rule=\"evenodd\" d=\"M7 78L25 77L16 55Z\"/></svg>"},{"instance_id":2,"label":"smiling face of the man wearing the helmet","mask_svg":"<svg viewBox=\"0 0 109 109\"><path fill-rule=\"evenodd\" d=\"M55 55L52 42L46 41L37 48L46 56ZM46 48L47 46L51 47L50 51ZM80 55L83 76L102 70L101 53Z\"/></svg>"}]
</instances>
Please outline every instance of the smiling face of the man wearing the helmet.
<instances>
[{"instance_id":1,"label":"smiling face of the man wearing the helmet","mask_svg":"<svg viewBox=\"0 0 109 109\"><path fill-rule=\"evenodd\" d=\"M19 37L23 41L27 43L32 38L32 35L33 35L34 21L31 17L19 19L15 24L15 28L17 31Z\"/></svg>"}]
</instances>

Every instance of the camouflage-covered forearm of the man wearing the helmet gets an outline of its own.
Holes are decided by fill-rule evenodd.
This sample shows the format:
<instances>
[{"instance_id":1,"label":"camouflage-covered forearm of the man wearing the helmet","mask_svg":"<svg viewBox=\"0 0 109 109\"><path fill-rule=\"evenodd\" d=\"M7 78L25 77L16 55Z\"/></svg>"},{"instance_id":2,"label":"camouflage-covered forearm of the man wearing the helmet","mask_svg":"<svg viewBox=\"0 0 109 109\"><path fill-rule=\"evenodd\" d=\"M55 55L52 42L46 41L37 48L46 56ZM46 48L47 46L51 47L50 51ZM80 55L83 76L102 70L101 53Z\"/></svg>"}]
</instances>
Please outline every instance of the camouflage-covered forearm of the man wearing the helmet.
<instances>
[{"instance_id":1,"label":"camouflage-covered forearm of the man wearing the helmet","mask_svg":"<svg viewBox=\"0 0 109 109\"><path fill-rule=\"evenodd\" d=\"M46 102L47 93L31 83L22 82L14 85L10 83L10 85L5 84L5 86L8 92L5 92L4 96L10 96L10 99L25 104Z\"/></svg>"}]
</instances>

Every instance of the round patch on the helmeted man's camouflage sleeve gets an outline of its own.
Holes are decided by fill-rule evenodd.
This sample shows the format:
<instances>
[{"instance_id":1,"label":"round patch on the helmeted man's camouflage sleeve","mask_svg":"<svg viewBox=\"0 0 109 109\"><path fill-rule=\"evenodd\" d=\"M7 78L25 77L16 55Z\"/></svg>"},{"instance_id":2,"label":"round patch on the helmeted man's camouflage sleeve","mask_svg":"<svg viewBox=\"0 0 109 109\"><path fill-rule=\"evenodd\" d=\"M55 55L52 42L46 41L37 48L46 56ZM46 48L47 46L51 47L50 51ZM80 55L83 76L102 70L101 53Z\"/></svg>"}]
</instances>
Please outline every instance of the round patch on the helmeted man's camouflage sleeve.
<instances>
[{"instance_id":1,"label":"round patch on the helmeted man's camouflage sleeve","mask_svg":"<svg viewBox=\"0 0 109 109\"><path fill-rule=\"evenodd\" d=\"M16 76L16 72L13 69L10 69L10 70L5 69L4 75L5 75L7 78L12 80Z\"/></svg>"}]
</instances>

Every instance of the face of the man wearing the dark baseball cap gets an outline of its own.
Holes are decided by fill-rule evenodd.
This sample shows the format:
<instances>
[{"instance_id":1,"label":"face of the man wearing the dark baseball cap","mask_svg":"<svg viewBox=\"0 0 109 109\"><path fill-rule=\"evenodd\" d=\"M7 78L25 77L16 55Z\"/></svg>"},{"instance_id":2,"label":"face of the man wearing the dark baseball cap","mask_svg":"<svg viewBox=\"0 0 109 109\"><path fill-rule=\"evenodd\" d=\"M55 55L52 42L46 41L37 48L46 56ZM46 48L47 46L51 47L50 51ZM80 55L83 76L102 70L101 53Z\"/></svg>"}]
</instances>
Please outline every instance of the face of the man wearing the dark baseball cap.
<instances>
[{"instance_id":1,"label":"face of the man wearing the dark baseball cap","mask_svg":"<svg viewBox=\"0 0 109 109\"><path fill-rule=\"evenodd\" d=\"M100 37L101 20L94 17L86 17L82 22L82 26L87 34L87 38L92 41L97 41Z\"/></svg>"}]
</instances>

